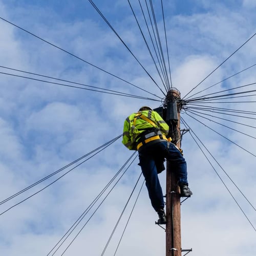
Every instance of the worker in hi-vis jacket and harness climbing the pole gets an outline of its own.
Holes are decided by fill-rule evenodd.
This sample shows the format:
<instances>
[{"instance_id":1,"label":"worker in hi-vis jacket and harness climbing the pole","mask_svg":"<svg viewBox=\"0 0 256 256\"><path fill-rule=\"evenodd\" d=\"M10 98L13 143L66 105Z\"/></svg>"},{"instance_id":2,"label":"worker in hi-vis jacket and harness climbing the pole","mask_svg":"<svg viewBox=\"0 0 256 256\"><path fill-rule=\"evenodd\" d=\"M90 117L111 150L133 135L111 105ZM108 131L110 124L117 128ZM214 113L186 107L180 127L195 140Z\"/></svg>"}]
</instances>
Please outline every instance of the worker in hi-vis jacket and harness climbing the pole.
<instances>
[{"instance_id":1,"label":"worker in hi-vis jacket and harness climbing the pole","mask_svg":"<svg viewBox=\"0 0 256 256\"><path fill-rule=\"evenodd\" d=\"M169 142L171 139L166 138L168 130L167 123L149 106L142 106L139 112L127 117L123 125L122 143L129 150L139 152L139 165L151 204L158 213L158 224L166 223L163 192L158 179L158 174L164 170L164 159L170 161L170 166L178 174L180 196L192 195L187 182L186 161L176 145Z\"/></svg>"}]
</instances>

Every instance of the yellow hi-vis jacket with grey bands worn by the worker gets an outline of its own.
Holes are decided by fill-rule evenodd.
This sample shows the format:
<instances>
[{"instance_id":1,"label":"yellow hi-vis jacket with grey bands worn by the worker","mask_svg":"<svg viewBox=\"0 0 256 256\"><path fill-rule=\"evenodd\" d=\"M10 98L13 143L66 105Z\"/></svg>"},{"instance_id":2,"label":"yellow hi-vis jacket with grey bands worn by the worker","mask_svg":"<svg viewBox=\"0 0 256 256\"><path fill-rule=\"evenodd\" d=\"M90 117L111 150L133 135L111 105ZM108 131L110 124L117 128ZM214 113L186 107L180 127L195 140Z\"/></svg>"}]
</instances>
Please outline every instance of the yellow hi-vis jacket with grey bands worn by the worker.
<instances>
[{"instance_id":1,"label":"yellow hi-vis jacket with grey bands worn by the worker","mask_svg":"<svg viewBox=\"0 0 256 256\"><path fill-rule=\"evenodd\" d=\"M158 128L164 136L167 136L169 126L157 112L143 110L133 113L124 121L122 143L129 150L137 150L136 138L146 129L154 127Z\"/></svg>"}]
</instances>

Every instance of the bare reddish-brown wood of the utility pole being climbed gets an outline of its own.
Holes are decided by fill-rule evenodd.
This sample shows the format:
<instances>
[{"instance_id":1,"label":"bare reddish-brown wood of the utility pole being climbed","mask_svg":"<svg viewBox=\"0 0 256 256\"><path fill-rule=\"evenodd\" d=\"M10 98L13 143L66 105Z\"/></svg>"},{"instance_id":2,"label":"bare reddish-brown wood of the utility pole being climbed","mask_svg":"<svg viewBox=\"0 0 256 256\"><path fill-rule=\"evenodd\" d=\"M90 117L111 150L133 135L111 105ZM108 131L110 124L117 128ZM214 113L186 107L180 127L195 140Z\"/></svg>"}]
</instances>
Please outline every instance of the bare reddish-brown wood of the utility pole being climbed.
<instances>
[{"instance_id":1,"label":"bare reddish-brown wood of the utility pole being climbed","mask_svg":"<svg viewBox=\"0 0 256 256\"><path fill-rule=\"evenodd\" d=\"M177 109L177 135L180 138L180 111L177 102L173 99L180 98L176 90L169 92L172 97L167 99L167 113ZM170 102L172 101L172 102ZM171 103L171 104L168 104ZM173 108L173 109L172 109ZM178 139L177 147L180 147ZM181 218L180 218L180 191L177 174L172 170L170 163L166 164L166 256L181 256Z\"/></svg>"}]
</instances>

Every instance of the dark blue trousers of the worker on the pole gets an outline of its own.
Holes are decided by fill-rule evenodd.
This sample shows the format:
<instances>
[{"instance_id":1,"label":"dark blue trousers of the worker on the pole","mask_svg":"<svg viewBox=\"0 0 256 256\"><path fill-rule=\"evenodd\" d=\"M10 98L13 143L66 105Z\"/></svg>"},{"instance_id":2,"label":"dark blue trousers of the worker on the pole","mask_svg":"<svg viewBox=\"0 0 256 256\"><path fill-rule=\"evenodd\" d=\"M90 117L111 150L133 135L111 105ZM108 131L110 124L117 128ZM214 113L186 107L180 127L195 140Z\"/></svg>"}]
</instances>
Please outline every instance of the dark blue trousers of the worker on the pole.
<instances>
[{"instance_id":1,"label":"dark blue trousers of the worker on the pole","mask_svg":"<svg viewBox=\"0 0 256 256\"><path fill-rule=\"evenodd\" d=\"M177 173L179 185L188 185L186 161L174 144L164 141L150 146L142 146L142 149L139 151L140 166L146 181L151 204L156 211L164 208L163 192L158 179L156 165L159 159L164 160L164 158L169 160L173 172Z\"/></svg>"}]
</instances>

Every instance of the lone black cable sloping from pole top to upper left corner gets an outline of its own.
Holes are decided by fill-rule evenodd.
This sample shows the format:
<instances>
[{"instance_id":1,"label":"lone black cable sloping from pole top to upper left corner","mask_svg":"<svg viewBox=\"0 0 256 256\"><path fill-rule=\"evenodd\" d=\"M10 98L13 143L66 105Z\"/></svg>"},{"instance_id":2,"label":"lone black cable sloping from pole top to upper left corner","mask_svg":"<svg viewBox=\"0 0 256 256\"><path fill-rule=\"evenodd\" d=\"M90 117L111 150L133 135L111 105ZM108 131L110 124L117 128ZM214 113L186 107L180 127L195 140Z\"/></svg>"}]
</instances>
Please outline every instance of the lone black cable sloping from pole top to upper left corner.
<instances>
[{"instance_id":1,"label":"lone black cable sloping from pole top to upper left corner","mask_svg":"<svg viewBox=\"0 0 256 256\"><path fill-rule=\"evenodd\" d=\"M106 74L109 74L109 75L111 75L111 76L113 76L113 77L115 77L115 78L117 78L117 79L119 79L119 80L122 80L122 81L124 81L124 82L126 82L126 83L131 84L132 86L135 86L134 84L132 84L132 83L130 83L130 82L128 82L128 81L126 81L126 80L124 80L124 79L122 79L122 78L120 78L120 77L118 77L118 76L116 76L116 75L114 75L114 74L112 74L112 73L110 73L110 72L108 72L108 71L105 71L105 70L103 70L102 68L99 68L99 67L93 65L92 63L88 62L87 60L84 60L84 59L82 59L82 58L80 58L80 57L74 55L73 53L68 52L68 51L66 51L66 50L64 50L64 49L62 49L62 48L60 48L60 47L58 47L58 46L52 44L51 42L49 42L49 41L47 41L47 40L45 40L45 39L43 39L43 38L41 38L41 37L39 37L39 36L37 36L37 35L31 33L31 32L29 32L28 30L23 29L23 28L21 28L21 27L15 25L14 23L9 22L7 19L4 19L3 17L0 17L0 19L4 20L5 22L7 22L7 23L13 25L14 27L16 27L16 28L18 28L18 29L23 30L24 32L29 33L29 34L32 35L32 36L35 36L36 38L38 38L38 39L40 39L40 40L46 42L47 44L49 44L49 45L51 45L51 46L53 46L53 47L55 47L55 48L57 48L57 49L59 49L59 50L65 52L65 53L68 53L69 55L71 55L71 56L73 56L73 57L75 57L75 58L77 58L77 59L79 59L79 60L81 60L81 61L83 61L83 62L89 64L89 65L91 65L92 67L94 67L94 68L96 68L96 69L98 69L98 70L100 70L100 71L105 72ZM136 88L139 88L139 87L137 87L137 86L135 86L135 87L136 87ZM141 89L141 88L139 88L139 89ZM143 90L143 89L141 89L141 90ZM145 90L143 90L143 91L145 91ZM147 91L145 91L145 92L147 92ZM150 92L147 92L147 93L150 93ZM150 93L150 94L156 96L156 95L153 94L153 93Z\"/></svg>"}]
</instances>

